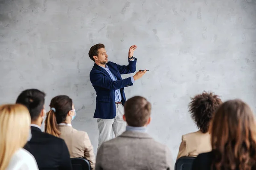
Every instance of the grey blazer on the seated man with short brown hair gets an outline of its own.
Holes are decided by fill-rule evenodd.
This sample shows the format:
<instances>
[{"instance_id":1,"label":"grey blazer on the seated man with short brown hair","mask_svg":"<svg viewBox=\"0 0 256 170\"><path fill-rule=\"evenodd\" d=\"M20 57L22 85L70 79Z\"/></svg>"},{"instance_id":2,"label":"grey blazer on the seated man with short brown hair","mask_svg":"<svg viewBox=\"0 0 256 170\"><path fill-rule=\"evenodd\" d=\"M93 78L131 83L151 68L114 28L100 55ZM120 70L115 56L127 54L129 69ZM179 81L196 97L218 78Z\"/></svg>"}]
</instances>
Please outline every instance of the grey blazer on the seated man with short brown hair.
<instances>
[{"instance_id":1,"label":"grey blazer on the seated man with short brown hair","mask_svg":"<svg viewBox=\"0 0 256 170\"><path fill-rule=\"evenodd\" d=\"M172 154L147 133L125 131L104 142L95 170L174 170Z\"/></svg>"}]
</instances>

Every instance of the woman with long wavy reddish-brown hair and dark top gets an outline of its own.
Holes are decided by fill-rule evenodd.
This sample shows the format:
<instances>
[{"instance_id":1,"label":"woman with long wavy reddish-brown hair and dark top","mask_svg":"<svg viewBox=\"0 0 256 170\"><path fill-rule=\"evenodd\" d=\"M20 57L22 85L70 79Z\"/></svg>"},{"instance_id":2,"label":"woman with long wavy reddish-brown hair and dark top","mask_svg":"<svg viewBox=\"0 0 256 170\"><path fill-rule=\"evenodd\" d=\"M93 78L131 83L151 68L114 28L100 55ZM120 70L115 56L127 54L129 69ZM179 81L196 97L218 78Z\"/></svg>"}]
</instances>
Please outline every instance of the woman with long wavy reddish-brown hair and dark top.
<instances>
[{"instance_id":1,"label":"woman with long wavy reddish-brown hair and dark top","mask_svg":"<svg viewBox=\"0 0 256 170\"><path fill-rule=\"evenodd\" d=\"M256 170L256 122L250 107L224 102L212 119L212 151L199 154L193 170Z\"/></svg>"}]
</instances>

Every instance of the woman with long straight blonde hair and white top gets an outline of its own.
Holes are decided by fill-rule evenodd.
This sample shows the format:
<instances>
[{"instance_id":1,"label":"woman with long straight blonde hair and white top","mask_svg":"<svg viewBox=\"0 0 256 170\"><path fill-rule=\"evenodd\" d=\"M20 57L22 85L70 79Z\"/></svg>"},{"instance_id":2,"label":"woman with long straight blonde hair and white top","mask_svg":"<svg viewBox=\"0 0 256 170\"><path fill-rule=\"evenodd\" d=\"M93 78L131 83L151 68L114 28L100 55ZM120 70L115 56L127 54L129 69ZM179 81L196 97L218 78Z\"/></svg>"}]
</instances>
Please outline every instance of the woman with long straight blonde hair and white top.
<instances>
[{"instance_id":1,"label":"woman with long straight blonde hair and white top","mask_svg":"<svg viewBox=\"0 0 256 170\"><path fill-rule=\"evenodd\" d=\"M35 158L23 149L30 122L25 106L0 106L0 170L38 170Z\"/></svg>"}]
</instances>

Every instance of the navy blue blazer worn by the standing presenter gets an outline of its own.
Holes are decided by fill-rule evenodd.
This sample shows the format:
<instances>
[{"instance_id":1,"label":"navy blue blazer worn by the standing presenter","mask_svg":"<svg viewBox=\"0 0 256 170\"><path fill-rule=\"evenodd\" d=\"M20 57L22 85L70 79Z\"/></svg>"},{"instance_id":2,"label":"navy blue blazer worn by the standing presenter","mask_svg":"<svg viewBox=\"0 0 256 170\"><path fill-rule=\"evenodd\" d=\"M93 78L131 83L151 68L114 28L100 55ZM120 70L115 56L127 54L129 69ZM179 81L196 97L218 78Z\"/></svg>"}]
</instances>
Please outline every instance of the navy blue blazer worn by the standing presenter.
<instances>
[{"instance_id":1,"label":"navy blue blazer worn by the standing presenter","mask_svg":"<svg viewBox=\"0 0 256 170\"><path fill-rule=\"evenodd\" d=\"M129 61L128 65L118 65L113 62L108 62L109 70L116 76L117 80L114 81L109 76L104 68L96 65L90 71L90 82L96 91L96 109L94 118L100 119L113 119L116 116L116 105L114 91L120 89L122 95L122 105L125 104L124 87L132 85L131 77L122 79L121 74L130 74L136 71L137 59Z\"/></svg>"}]
</instances>

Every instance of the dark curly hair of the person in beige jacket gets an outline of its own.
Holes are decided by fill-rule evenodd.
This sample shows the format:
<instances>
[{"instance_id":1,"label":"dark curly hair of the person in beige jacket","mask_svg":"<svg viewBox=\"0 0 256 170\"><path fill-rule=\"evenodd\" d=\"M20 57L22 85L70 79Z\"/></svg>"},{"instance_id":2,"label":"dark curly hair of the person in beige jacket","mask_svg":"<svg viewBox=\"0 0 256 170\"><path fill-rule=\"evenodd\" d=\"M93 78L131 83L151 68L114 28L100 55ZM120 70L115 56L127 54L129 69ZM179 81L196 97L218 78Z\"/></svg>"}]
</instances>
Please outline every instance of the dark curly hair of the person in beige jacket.
<instances>
[{"instance_id":1,"label":"dark curly hair of the person in beige jacket","mask_svg":"<svg viewBox=\"0 0 256 170\"><path fill-rule=\"evenodd\" d=\"M203 91L202 94L195 95L189 103L189 112L197 127L203 133L209 130L209 122L212 119L212 114L217 111L222 104L218 95Z\"/></svg>"}]
</instances>

